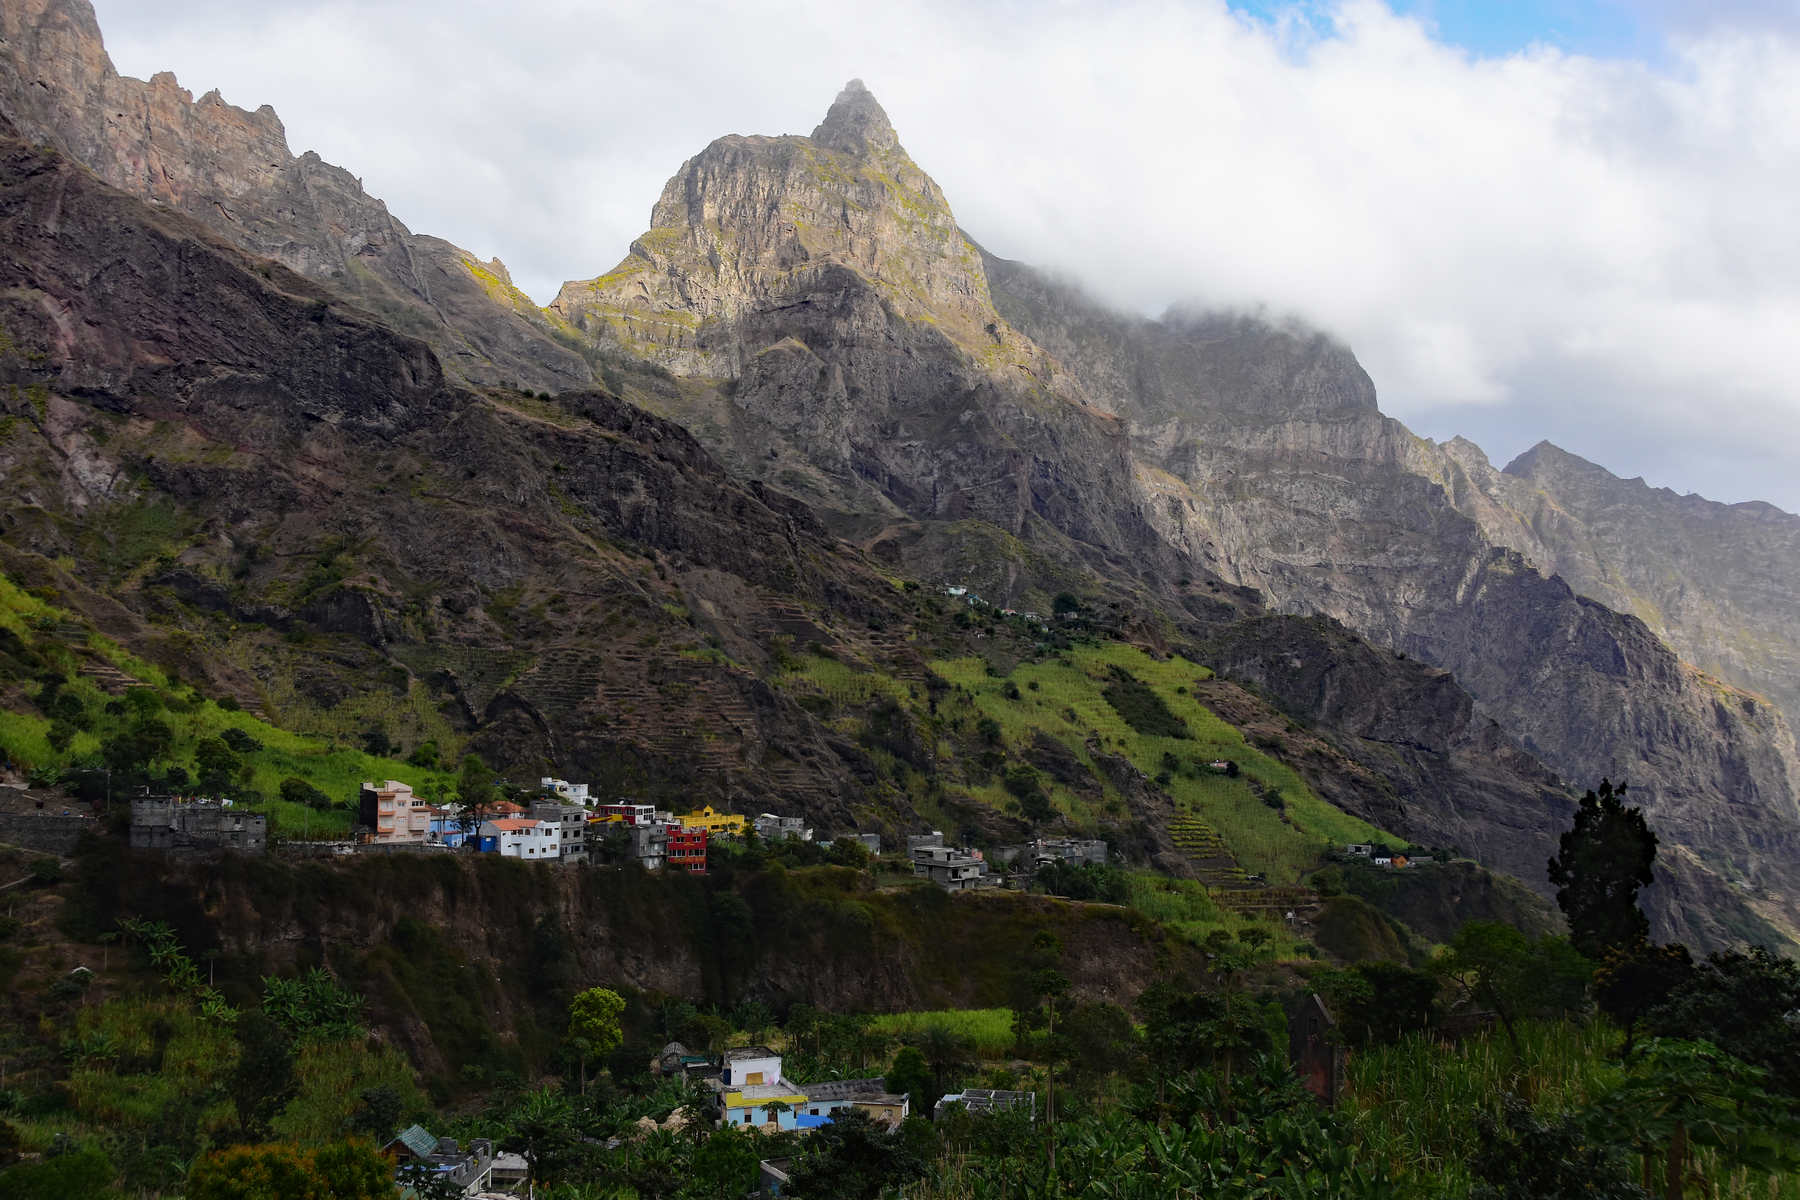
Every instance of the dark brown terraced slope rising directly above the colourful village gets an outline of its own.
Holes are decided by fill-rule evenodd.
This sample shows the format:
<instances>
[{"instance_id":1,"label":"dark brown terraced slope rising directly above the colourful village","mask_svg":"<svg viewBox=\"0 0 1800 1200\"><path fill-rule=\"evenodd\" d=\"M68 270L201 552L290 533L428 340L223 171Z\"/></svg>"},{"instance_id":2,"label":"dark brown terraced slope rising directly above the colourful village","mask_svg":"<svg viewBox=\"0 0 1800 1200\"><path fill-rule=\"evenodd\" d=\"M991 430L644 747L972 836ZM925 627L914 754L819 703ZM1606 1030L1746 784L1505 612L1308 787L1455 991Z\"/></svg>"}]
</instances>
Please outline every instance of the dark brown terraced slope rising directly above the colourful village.
<instances>
[{"instance_id":1,"label":"dark brown terraced slope rising directly above the colourful village","mask_svg":"<svg viewBox=\"0 0 1800 1200\"><path fill-rule=\"evenodd\" d=\"M826 829L931 820L1017 840L1046 828L1008 811L999 781L1024 772L1049 828L1111 829L1132 860L1195 869L1143 770L1053 712L995 743L927 667L927 653L981 653L1001 676L1053 662L1037 628L981 628L961 603L896 588L666 421L603 392L457 387L421 342L14 139L0 241L0 570L205 693L337 741L466 743L517 775L779 806ZM1082 684L1096 694L1120 662L1152 671L1141 651L1098 653ZM1229 698L1242 723L1287 720ZM29 687L0 700L43 732ZM1172 684L1166 703L1199 714ZM1242 747L1206 721L1206 745ZM1463 790L1469 763L1424 738L1420 772ZM1294 757L1285 788L1307 813L1328 813L1310 786L1400 837L1426 828L1409 802L1427 797L1328 736ZM1534 765L1485 774L1499 802L1566 806ZM1247 784L1219 788L1276 820ZM1276 858L1265 831L1237 862L1292 871L1316 853L1318 828L1285 828Z\"/></svg>"}]
</instances>

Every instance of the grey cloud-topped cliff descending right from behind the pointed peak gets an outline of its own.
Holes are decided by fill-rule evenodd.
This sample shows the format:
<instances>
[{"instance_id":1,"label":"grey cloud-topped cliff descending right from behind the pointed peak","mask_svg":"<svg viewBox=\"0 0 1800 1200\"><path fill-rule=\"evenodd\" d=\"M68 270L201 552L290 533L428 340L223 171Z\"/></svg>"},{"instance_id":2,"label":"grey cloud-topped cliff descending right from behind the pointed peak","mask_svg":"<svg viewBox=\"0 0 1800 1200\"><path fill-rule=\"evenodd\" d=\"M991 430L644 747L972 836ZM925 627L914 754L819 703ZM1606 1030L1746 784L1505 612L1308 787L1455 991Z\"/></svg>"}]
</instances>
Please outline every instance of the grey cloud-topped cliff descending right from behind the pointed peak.
<instances>
[{"instance_id":1,"label":"grey cloud-topped cliff descending right from behind the pointed peak","mask_svg":"<svg viewBox=\"0 0 1800 1200\"><path fill-rule=\"evenodd\" d=\"M995 259L988 279L1127 417L1168 542L1278 612L1449 669L1564 779L1633 781L1670 864L1800 928L1800 759L1780 712L1489 536L1348 349L1242 315L1120 317Z\"/></svg>"}]
</instances>

